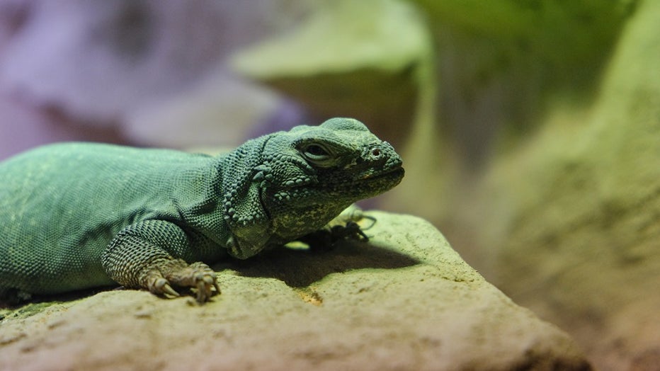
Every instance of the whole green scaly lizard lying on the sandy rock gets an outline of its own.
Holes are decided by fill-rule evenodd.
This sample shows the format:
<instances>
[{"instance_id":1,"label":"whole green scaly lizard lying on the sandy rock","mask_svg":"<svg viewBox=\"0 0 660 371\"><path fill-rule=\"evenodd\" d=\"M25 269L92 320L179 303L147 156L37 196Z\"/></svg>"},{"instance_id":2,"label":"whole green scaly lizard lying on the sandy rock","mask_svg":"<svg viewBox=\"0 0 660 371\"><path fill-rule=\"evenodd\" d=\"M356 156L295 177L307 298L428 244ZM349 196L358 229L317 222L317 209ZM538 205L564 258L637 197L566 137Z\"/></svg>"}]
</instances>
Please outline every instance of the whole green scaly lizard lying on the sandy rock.
<instances>
[{"instance_id":1,"label":"whole green scaly lizard lying on the sandy rock","mask_svg":"<svg viewBox=\"0 0 660 371\"><path fill-rule=\"evenodd\" d=\"M0 163L0 297L122 285L207 302L220 294L208 264L302 241L403 176L392 145L351 118L217 156L47 144Z\"/></svg>"}]
</instances>

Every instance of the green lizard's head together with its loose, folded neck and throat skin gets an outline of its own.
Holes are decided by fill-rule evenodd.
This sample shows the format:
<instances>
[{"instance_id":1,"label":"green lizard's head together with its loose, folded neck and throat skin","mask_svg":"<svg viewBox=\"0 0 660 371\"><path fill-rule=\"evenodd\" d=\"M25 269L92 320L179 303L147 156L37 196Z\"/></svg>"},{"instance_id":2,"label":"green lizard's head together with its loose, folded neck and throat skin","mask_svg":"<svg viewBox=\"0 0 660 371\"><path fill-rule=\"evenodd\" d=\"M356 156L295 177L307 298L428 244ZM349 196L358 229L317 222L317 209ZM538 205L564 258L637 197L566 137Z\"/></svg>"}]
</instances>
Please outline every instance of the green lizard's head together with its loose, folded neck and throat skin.
<instances>
[{"instance_id":1,"label":"green lizard's head together with its loose, folded neck and throat skin","mask_svg":"<svg viewBox=\"0 0 660 371\"><path fill-rule=\"evenodd\" d=\"M229 252L239 258L314 232L404 176L394 148L350 118L254 139L229 162L223 204L234 234Z\"/></svg>"}]
</instances>

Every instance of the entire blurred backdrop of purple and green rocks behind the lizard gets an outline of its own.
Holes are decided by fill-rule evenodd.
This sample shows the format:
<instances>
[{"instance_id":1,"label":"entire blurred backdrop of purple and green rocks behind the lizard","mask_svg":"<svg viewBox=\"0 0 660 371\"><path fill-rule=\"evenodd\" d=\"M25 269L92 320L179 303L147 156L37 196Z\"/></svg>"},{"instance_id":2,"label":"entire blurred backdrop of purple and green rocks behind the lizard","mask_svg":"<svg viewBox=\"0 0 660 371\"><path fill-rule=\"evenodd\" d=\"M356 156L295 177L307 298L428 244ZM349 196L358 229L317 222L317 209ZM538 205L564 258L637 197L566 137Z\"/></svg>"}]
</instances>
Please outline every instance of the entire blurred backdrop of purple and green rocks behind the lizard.
<instances>
[{"instance_id":1,"label":"entire blurred backdrop of purple and green rocks behind the lizard","mask_svg":"<svg viewBox=\"0 0 660 371\"><path fill-rule=\"evenodd\" d=\"M659 21L654 0L0 0L0 159L357 118L406 166L368 205L433 222L599 369L660 370Z\"/></svg>"}]
</instances>

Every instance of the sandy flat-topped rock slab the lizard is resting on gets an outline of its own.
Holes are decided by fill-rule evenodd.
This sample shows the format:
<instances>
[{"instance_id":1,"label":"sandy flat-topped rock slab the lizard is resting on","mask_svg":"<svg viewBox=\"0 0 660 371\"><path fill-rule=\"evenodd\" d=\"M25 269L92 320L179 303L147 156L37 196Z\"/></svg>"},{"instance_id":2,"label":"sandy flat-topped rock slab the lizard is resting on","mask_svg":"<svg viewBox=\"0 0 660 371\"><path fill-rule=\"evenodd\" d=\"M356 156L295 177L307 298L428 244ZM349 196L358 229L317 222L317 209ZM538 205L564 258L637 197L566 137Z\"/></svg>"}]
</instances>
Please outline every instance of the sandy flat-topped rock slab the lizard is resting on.
<instances>
[{"instance_id":1,"label":"sandy flat-topped rock slab the lizard is resting on","mask_svg":"<svg viewBox=\"0 0 660 371\"><path fill-rule=\"evenodd\" d=\"M115 290L4 311L0 369L590 369L431 224L368 215L369 244L222 263L222 295L203 306Z\"/></svg>"}]
</instances>

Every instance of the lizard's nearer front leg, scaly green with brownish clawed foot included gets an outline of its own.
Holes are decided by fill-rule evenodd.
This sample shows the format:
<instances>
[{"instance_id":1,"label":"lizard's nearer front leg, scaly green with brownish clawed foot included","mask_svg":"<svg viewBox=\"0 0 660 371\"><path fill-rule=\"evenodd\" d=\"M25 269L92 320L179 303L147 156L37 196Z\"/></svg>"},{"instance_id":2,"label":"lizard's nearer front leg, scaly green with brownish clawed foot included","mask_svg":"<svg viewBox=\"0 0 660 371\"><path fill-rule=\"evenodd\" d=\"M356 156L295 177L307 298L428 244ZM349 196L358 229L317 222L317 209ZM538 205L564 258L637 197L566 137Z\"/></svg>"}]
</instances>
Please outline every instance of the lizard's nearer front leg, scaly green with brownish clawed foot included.
<instances>
[{"instance_id":1,"label":"lizard's nearer front leg, scaly green with brownish clawed foot included","mask_svg":"<svg viewBox=\"0 0 660 371\"><path fill-rule=\"evenodd\" d=\"M175 287L195 287L197 301L220 293L215 272L205 263L188 264L190 237L176 224L147 220L126 227L103 252L106 273L120 285L143 288L157 295L179 296Z\"/></svg>"}]
</instances>

